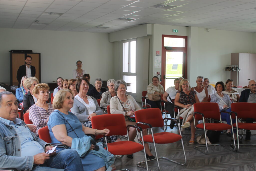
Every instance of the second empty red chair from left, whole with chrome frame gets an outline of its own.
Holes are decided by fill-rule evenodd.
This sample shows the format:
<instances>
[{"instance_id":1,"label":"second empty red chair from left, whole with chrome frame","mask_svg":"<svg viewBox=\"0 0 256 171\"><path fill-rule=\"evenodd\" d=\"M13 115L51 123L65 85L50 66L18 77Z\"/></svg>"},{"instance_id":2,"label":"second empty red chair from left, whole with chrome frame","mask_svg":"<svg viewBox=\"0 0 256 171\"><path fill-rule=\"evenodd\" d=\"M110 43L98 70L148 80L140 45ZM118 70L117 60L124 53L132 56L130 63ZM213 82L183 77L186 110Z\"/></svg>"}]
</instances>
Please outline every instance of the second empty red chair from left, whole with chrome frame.
<instances>
[{"instance_id":1,"label":"second empty red chair from left, whole with chrome frame","mask_svg":"<svg viewBox=\"0 0 256 171\"><path fill-rule=\"evenodd\" d=\"M158 162L159 159L165 159L165 160L168 160L170 162L174 162L174 163L177 163L177 164L180 164L180 165L184 165L186 163L187 159L186 159L186 154L185 154L185 149L184 149L184 145L183 145L181 132L180 132L180 129L179 129L180 126L178 126L180 135L165 132L165 129L164 129L164 132L153 133L153 129L152 129L153 127L163 127L165 119L173 120L176 124L179 125L179 121L177 119L173 119L173 118L164 118L163 119L162 112L159 108L138 110L138 111L135 112L135 119L136 119L136 122L137 122L136 123L137 126L142 127L142 129L146 129L146 128L151 129L151 134L144 135L143 138L144 138L145 143L153 143L156 158L154 158L152 160L157 161L158 168L159 168L159 162ZM144 142L141 141L142 139L140 138L139 140L144 145ZM155 144L169 144L169 143L177 142L179 140L181 140L181 144L182 144L182 147L183 147L183 153L184 153L184 158L185 158L184 163L179 163L177 161L170 160L166 157L158 157L157 156L157 150L156 150ZM145 161L137 163L137 166L142 167L142 168L145 169L145 167L141 166L141 164L145 163ZM149 161L151 161L151 160L149 160Z\"/></svg>"}]
</instances>

